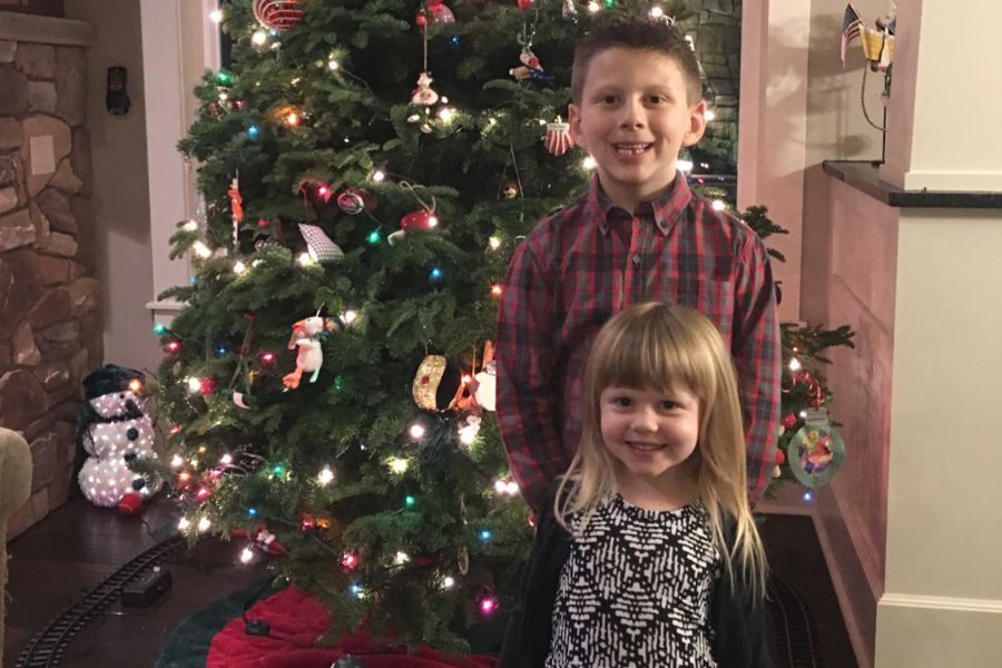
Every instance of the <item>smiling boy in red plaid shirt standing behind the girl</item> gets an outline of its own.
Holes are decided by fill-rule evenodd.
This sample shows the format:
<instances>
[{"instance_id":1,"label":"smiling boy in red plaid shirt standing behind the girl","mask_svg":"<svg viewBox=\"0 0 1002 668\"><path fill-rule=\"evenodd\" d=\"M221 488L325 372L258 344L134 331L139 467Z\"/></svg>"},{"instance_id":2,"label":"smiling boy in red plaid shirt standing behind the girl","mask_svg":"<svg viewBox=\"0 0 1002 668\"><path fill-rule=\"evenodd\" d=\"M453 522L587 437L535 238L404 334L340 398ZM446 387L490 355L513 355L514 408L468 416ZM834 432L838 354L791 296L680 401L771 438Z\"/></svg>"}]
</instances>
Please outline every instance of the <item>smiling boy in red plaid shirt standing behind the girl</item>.
<instances>
[{"instance_id":1,"label":"smiling boy in red plaid shirt standing behind the girl","mask_svg":"<svg viewBox=\"0 0 1002 668\"><path fill-rule=\"evenodd\" d=\"M709 317L734 355L754 503L775 456L776 302L762 240L676 167L706 129L696 57L665 21L612 19L579 45L571 89L570 132L597 175L525 238L504 279L497 407L512 475L538 512L578 445L592 338L630 304L674 302Z\"/></svg>"}]
</instances>

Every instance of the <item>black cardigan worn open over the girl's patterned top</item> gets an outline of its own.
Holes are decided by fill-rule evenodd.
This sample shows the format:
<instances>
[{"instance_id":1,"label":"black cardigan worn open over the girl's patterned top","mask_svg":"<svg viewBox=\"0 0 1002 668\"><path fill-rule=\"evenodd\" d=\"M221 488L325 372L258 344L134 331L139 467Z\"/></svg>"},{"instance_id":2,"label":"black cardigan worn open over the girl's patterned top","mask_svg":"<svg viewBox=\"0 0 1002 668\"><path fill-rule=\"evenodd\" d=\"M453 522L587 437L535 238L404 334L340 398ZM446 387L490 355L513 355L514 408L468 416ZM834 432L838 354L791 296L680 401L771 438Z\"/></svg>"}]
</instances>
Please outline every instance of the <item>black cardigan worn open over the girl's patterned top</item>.
<instances>
[{"instance_id":1,"label":"black cardigan worn open over the girl's patterned top","mask_svg":"<svg viewBox=\"0 0 1002 668\"><path fill-rule=\"evenodd\" d=\"M553 606L571 550L570 533L553 514L556 488L550 489L537 519L532 553L522 572L521 600L508 625L497 668L543 668L550 654ZM763 601L752 598L740 569L734 574L731 579L725 570L710 600L714 660L718 668L769 668Z\"/></svg>"}]
</instances>

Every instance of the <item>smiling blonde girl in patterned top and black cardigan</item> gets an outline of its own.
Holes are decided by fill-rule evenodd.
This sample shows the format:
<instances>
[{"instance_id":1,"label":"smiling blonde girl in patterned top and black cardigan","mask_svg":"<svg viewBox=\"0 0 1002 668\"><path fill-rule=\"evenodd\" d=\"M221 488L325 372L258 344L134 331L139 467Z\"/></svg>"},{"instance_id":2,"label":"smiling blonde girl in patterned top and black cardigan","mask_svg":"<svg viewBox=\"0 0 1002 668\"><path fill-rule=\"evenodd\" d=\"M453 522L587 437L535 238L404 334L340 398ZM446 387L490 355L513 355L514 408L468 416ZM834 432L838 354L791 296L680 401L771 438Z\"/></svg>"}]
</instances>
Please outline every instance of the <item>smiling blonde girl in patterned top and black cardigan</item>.
<instances>
[{"instance_id":1,"label":"smiling blonde girl in patterned top and black cardigan","mask_svg":"<svg viewBox=\"0 0 1002 668\"><path fill-rule=\"evenodd\" d=\"M596 337L581 443L551 488L498 668L770 666L730 355L686 306Z\"/></svg>"}]
</instances>

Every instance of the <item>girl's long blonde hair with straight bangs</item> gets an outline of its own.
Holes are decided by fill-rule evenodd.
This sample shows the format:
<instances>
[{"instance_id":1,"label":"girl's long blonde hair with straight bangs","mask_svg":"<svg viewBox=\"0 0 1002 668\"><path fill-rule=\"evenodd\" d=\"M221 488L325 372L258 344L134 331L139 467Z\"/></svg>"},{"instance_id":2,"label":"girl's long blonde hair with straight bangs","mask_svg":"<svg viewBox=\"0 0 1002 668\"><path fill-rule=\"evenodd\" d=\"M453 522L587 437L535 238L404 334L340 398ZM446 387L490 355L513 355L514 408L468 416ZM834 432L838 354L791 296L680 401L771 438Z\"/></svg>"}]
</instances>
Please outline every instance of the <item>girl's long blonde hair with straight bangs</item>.
<instances>
[{"instance_id":1,"label":"girl's long blonde hair with straight bangs","mask_svg":"<svg viewBox=\"0 0 1002 668\"><path fill-rule=\"evenodd\" d=\"M699 440L686 462L696 477L697 499L728 573L737 562L765 591L766 559L748 504L745 432L734 362L714 324L699 312L674 304L635 304L598 333L584 367L581 442L557 492L557 520L583 511L583 531L600 501L616 492L621 464L602 440L601 395L612 386L668 392L685 387L699 399ZM725 540L734 521L735 540Z\"/></svg>"}]
</instances>

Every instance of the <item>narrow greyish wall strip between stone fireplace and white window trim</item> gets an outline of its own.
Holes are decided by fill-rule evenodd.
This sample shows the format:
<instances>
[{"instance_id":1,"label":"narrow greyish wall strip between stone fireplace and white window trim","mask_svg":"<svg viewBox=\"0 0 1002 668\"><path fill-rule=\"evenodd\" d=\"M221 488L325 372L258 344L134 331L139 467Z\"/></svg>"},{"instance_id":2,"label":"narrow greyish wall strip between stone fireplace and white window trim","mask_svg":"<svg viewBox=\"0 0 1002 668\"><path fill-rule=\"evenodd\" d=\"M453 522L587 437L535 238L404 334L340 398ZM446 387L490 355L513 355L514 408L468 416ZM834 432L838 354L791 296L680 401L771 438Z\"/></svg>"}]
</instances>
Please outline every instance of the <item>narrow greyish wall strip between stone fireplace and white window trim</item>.
<instances>
[{"instance_id":1,"label":"narrow greyish wall strip between stone fireplace and white window trim","mask_svg":"<svg viewBox=\"0 0 1002 668\"><path fill-rule=\"evenodd\" d=\"M66 0L66 14L97 30L88 53L87 127L94 151L105 361L155 370L161 352L146 310L154 283L139 6L134 0ZM125 116L111 116L105 107L111 66L128 69L132 105Z\"/></svg>"}]
</instances>

